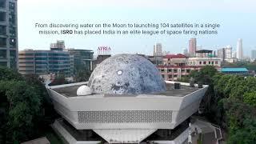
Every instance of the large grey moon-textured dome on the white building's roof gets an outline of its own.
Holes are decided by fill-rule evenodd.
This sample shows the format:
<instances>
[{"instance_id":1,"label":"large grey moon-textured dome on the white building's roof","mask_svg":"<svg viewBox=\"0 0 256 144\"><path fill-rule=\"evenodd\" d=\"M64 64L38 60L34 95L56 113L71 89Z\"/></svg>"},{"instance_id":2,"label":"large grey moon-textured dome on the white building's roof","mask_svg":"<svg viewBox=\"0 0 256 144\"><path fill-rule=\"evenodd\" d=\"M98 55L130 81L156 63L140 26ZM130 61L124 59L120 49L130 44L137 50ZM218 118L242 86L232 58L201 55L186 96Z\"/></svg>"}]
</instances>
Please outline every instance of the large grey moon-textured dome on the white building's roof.
<instances>
[{"instance_id":1,"label":"large grey moon-textured dome on the white building's roof","mask_svg":"<svg viewBox=\"0 0 256 144\"><path fill-rule=\"evenodd\" d=\"M90 75L88 86L96 94L149 94L166 90L154 64L137 54L106 58Z\"/></svg>"}]
</instances>

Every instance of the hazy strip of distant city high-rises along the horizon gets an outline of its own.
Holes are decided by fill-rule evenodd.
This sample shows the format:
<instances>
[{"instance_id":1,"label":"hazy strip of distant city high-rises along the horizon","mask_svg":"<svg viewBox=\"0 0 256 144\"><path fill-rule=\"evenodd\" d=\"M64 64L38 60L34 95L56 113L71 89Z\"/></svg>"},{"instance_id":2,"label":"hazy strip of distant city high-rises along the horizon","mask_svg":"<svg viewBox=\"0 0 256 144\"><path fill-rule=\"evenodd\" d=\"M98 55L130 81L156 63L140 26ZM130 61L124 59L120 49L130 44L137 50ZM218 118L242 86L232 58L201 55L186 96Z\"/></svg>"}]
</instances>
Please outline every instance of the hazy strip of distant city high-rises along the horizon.
<instances>
[{"instance_id":1,"label":"hazy strip of distant city high-rises along the horizon","mask_svg":"<svg viewBox=\"0 0 256 144\"><path fill-rule=\"evenodd\" d=\"M57 42L60 42L60 46L57 46L56 43L50 43L50 50L54 50L56 48L57 49L60 48L61 50L74 50L74 49L76 49L76 50L91 50L91 49L86 49L86 48L79 49L79 48L74 47L74 46L65 46L65 41L64 40L57 40ZM242 38L238 38L236 47L232 47L230 45L227 45L227 46L218 46L215 49L206 49L202 45L197 46L196 45L197 44L197 38L190 38L188 40L188 42L190 43L189 46L187 48L181 49L177 53L175 53L174 51L170 51L168 49L166 50L165 47L162 47L161 42L157 42L157 43L154 43L154 45L151 46L151 48L150 48L151 51L148 54L143 53L143 52L139 53L138 51L129 52L127 54L142 54L142 55L147 55L147 56L156 56L156 55L164 56L164 55L168 55L168 54L189 54L190 57L193 57L194 51L196 51L196 50L212 50L213 54L215 56L218 56L218 58L222 58L224 55L226 55L225 58L228 58L228 59L237 58L239 61L249 60L249 59L254 60L255 59L252 53L254 52L254 50L256 50L256 47L255 47L255 49L250 50L248 55L244 55L245 51L243 50L243 46L242 46ZM194 45L194 43L195 43L195 45ZM49 44L48 44L48 46L49 46ZM191 48L191 46L192 46L192 48ZM106 50L104 53L102 53L103 51L100 50L100 53L99 53L99 48L102 49L103 47L107 47L109 50ZM238 47L242 47L242 49L238 50ZM192 49L193 49L193 51L190 51ZM46 49L28 48L28 49L23 49L23 50L49 50L49 47L47 47ZM223 52L221 52L220 50L221 51L223 50ZM20 51L22 51L22 50L20 50ZM97 50L92 50L92 51L95 52L94 53L94 58L96 58L98 55L102 55L102 54L103 55L104 54L110 54L110 55L117 54L117 53L112 51L112 48L110 48L110 46L98 46ZM98 53L97 53L97 51L98 51ZM240 53L240 51L242 52L242 55L240 55L241 57L238 55L238 52ZM222 58L222 59L225 59L225 58ZM228 61L228 62L232 63L234 61L232 60L232 61Z\"/></svg>"}]
</instances>

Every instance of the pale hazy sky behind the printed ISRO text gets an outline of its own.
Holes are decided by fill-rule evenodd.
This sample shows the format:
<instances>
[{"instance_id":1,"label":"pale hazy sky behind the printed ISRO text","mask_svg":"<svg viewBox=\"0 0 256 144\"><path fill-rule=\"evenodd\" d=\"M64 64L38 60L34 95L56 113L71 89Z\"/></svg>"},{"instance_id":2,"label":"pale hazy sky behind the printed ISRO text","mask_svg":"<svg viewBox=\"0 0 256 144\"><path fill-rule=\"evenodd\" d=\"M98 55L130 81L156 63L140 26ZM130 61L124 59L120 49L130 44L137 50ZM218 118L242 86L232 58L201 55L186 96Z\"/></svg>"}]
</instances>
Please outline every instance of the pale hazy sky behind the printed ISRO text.
<instances>
[{"instance_id":1,"label":"pale hazy sky behind the printed ISRO text","mask_svg":"<svg viewBox=\"0 0 256 144\"><path fill-rule=\"evenodd\" d=\"M236 50L242 38L244 54L256 50L255 0L18 0L19 50L49 50L50 43L64 40L66 47L94 50L110 46L112 54L152 54L156 42L171 54L188 48L197 38L202 49L230 45ZM84 36L40 35L35 23L187 22L219 23L216 35Z\"/></svg>"}]
</instances>

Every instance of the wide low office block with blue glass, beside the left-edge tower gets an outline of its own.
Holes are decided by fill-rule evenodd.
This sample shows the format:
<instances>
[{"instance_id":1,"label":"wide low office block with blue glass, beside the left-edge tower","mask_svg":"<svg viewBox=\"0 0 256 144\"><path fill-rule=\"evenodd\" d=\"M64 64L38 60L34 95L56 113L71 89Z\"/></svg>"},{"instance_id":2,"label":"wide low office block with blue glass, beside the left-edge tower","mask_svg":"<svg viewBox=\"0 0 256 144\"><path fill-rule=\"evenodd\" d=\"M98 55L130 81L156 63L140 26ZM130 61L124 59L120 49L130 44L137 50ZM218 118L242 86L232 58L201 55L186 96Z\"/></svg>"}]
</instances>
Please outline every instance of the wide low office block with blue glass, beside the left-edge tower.
<instances>
[{"instance_id":1,"label":"wide low office block with blue glass, beside the left-edge tower","mask_svg":"<svg viewBox=\"0 0 256 144\"><path fill-rule=\"evenodd\" d=\"M70 54L55 50L21 50L18 54L21 74L71 75Z\"/></svg>"}]
</instances>

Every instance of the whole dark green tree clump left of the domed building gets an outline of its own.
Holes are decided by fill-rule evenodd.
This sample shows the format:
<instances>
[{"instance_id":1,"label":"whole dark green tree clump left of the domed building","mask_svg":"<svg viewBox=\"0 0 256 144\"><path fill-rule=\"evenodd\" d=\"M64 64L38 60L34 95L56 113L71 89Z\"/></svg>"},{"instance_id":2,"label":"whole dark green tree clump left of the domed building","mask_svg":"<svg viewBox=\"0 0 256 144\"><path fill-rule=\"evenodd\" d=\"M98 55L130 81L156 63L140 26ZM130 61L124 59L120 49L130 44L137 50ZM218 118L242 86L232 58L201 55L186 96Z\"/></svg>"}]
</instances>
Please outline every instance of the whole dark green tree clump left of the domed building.
<instances>
[{"instance_id":1,"label":"whole dark green tree clump left of the domed building","mask_svg":"<svg viewBox=\"0 0 256 144\"><path fill-rule=\"evenodd\" d=\"M0 66L0 143L41 137L56 115L37 75Z\"/></svg>"}]
</instances>

